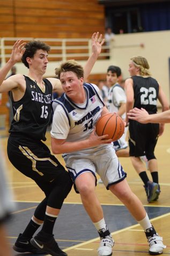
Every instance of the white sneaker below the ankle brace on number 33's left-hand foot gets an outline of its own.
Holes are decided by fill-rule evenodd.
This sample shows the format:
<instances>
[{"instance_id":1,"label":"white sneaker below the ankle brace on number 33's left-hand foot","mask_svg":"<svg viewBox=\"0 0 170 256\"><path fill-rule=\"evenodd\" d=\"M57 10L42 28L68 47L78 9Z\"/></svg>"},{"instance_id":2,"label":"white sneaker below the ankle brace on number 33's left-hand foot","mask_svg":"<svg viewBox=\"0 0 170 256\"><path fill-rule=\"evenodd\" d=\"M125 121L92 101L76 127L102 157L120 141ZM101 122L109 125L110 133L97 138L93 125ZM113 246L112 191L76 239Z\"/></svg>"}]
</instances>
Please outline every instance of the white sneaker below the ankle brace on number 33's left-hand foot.
<instances>
[{"instance_id":1,"label":"white sneaker below the ankle brace on number 33's left-hand foot","mask_svg":"<svg viewBox=\"0 0 170 256\"><path fill-rule=\"evenodd\" d=\"M114 240L112 239L111 235L101 238L100 246L98 248L98 256L111 256L113 246Z\"/></svg>"}]
</instances>

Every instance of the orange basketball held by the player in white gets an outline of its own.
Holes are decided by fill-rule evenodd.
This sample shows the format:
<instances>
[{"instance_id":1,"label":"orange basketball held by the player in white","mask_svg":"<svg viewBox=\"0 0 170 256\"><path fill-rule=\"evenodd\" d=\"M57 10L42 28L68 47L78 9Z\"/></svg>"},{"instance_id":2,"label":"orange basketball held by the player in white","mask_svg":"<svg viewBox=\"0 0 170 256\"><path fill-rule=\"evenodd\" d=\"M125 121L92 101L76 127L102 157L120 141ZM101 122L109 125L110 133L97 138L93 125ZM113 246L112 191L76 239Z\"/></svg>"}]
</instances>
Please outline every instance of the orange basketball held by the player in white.
<instances>
[{"instance_id":1,"label":"orange basketball held by the player in white","mask_svg":"<svg viewBox=\"0 0 170 256\"><path fill-rule=\"evenodd\" d=\"M124 133L124 122L116 113L102 115L97 121L96 133L98 136L107 134L107 139L117 141Z\"/></svg>"}]
</instances>

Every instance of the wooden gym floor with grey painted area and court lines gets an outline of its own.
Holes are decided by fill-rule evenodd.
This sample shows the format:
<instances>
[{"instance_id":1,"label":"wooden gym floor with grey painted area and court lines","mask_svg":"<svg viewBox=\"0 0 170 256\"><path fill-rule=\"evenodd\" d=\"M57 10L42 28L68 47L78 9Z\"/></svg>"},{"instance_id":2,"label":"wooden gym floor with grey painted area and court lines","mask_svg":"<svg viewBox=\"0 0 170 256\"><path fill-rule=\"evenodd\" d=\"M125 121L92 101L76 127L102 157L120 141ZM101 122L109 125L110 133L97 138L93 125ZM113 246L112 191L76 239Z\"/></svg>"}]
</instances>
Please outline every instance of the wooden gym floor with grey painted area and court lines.
<instances>
[{"instance_id":1,"label":"wooden gym floor with grey painted area and court lines","mask_svg":"<svg viewBox=\"0 0 170 256\"><path fill-rule=\"evenodd\" d=\"M166 124L164 134L159 138L156 147L156 156L159 167L159 183L161 193L159 200L154 203L147 203L145 191L141 179L132 167L130 158L120 158L124 170L127 172L129 185L141 199L145 209L160 236L167 246L164 254L170 254L170 125ZM6 224L8 229L9 244L12 247L18 234L22 233L29 222L36 205L43 199L43 193L38 186L29 178L20 174L13 168L6 155L6 142L8 132L0 131L2 147L6 167L10 178L10 185L16 201L16 210L12 213L11 219ZM47 146L50 147L50 134L47 132ZM61 155L58 160L64 164ZM147 240L141 226L131 217L128 210L122 205L110 191L107 191L103 184L96 188L102 208L104 209L107 226L113 234L115 246L114 256L144 256L149 255ZM54 228L55 239L63 251L69 256L97 256L99 236L90 218L87 216L81 203L80 196L72 189L68 198L65 199L60 216L57 218ZM13 256L34 255L12 251ZM37 254L36 254L37 255ZM41 255L41 254L39 254ZM42 254L47 255L47 254ZM4 255L5 256L5 255Z\"/></svg>"}]
</instances>

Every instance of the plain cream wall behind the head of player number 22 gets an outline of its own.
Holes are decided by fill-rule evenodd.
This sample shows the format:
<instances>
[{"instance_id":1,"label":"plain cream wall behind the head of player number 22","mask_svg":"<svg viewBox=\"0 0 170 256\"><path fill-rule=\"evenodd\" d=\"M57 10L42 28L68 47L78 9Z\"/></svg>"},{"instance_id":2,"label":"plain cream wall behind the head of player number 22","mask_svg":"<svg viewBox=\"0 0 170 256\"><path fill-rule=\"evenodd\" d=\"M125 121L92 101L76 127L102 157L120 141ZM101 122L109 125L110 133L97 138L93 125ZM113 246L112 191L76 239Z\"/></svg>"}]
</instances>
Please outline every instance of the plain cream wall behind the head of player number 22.
<instances>
[{"instance_id":1,"label":"plain cream wall behind the head of player number 22","mask_svg":"<svg viewBox=\"0 0 170 256\"><path fill-rule=\"evenodd\" d=\"M140 44L143 43L144 47ZM150 65L154 78L162 86L169 100L170 31L119 34L112 48L114 64L120 66L123 77L128 78L128 64L133 56L143 56Z\"/></svg>"}]
</instances>

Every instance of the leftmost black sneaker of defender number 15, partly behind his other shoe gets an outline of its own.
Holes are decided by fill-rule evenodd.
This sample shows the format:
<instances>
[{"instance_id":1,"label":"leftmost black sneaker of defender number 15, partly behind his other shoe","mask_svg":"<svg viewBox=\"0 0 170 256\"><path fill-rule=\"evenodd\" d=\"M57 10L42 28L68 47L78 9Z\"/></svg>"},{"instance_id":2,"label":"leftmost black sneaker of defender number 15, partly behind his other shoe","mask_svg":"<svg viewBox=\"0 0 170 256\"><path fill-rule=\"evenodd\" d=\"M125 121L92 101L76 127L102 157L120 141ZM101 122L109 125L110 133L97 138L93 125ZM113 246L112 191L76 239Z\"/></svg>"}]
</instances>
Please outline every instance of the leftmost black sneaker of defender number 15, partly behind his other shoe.
<instances>
[{"instance_id":1,"label":"leftmost black sneaker of defender number 15, partly behind his other shoe","mask_svg":"<svg viewBox=\"0 0 170 256\"><path fill-rule=\"evenodd\" d=\"M16 243L13 245L13 250L16 252L32 252L35 254L45 253L39 248L35 248L30 239L23 237L23 234L19 234Z\"/></svg>"}]
</instances>

